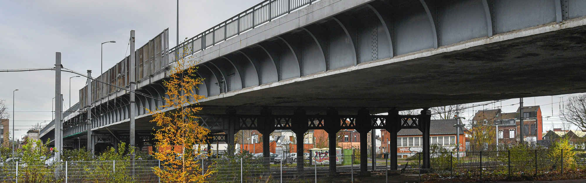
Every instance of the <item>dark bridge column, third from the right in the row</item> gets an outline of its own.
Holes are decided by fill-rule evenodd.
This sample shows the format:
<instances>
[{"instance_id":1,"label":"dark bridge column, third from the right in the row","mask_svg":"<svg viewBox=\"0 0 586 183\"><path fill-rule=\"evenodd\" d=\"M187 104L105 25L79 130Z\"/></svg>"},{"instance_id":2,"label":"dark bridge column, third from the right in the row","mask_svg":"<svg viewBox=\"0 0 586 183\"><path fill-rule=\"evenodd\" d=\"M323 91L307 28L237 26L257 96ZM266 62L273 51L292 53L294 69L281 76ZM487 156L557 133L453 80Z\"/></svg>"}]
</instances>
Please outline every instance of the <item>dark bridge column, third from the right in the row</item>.
<instances>
[{"instance_id":1,"label":"dark bridge column, third from the right in the row","mask_svg":"<svg viewBox=\"0 0 586 183\"><path fill-rule=\"evenodd\" d=\"M358 110L358 117L356 117L356 126L357 131L360 133L360 172L358 172L359 177L370 177L370 172L368 171L368 144L367 138L368 133L370 131L371 118L369 114L369 110L367 109L360 109Z\"/></svg>"}]
</instances>

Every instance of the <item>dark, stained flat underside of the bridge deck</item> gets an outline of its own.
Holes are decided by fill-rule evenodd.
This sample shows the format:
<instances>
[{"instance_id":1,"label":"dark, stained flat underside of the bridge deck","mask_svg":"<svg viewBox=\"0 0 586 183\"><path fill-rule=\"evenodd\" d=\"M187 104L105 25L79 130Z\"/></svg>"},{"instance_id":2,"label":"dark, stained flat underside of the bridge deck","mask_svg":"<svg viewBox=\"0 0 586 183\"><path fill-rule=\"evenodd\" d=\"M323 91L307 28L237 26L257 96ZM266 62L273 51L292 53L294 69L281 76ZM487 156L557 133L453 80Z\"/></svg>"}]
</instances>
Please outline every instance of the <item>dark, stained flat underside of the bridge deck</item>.
<instances>
[{"instance_id":1,"label":"dark, stained flat underside of the bridge deck","mask_svg":"<svg viewBox=\"0 0 586 183\"><path fill-rule=\"evenodd\" d=\"M469 42L474 41L478 40ZM260 106L270 106L275 114L291 114L298 106L312 114L325 114L327 107L356 114L360 107L384 113L391 107L408 110L581 93L586 92L585 46L586 27L580 26L406 61L376 60L360 65L388 64L237 93L201 105L207 114L224 114L227 106L236 106L241 114L258 114ZM419 53L425 52L432 50ZM315 75L320 74L324 73Z\"/></svg>"}]
</instances>

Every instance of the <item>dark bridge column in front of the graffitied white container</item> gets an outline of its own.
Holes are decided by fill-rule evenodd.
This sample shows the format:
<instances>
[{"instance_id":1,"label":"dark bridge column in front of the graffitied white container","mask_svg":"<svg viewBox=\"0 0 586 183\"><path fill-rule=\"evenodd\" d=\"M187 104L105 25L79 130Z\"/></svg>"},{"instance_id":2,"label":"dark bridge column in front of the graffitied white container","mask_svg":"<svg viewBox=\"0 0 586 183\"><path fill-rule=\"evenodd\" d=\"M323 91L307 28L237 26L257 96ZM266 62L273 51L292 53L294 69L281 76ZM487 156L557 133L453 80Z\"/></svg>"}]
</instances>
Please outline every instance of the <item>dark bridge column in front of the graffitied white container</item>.
<instances>
[{"instance_id":1,"label":"dark bridge column in front of the graffitied white container","mask_svg":"<svg viewBox=\"0 0 586 183\"><path fill-rule=\"evenodd\" d=\"M340 131L340 117L338 116L338 110L329 109L326 111L328 117L325 121L325 126L328 127L326 132L328 133L328 145L329 145L329 170L331 174L336 174L336 134Z\"/></svg>"}]
</instances>

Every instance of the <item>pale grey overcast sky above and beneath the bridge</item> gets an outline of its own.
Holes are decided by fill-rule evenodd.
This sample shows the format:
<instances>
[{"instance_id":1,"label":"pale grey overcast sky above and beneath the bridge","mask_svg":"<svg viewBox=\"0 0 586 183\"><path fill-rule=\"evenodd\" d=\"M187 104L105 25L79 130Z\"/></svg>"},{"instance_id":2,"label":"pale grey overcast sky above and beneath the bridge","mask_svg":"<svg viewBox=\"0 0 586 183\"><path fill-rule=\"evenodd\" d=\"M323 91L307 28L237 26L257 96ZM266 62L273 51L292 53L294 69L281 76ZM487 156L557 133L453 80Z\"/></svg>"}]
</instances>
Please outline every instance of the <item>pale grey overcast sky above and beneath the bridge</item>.
<instances>
[{"instance_id":1,"label":"pale grey overcast sky above and beneath the bridge","mask_svg":"<svg viewBox=\"0 0 586 183\"><path fill-rule=\"evenodd\" d=\"M191 38L203 30L258 4L261 0L182 1L179 6L180 40ZM129 54L130 30L136 30L137 48L169 28L169 46L176 45L176 1L8 1L0 0L0 69L53 67L55 52L62 53L64 67L93 76L100 72L100 43L104 44L104 70ZM62 93L69 107L69 77L63 73ZM79 89L86 80L71 79L71 104L79 101ZM0 73L0 99L12 111L15 93L16 137L30 126L52 120L54 72ZM561 96L559 96L561 97ZM540 105L544 130L561 127L558 102L567 97L531 97L525 106ZM518 99L489 106L475 107L463 114L471 118L475 111L495 109L513 112ZM552 104L553 103L553 104ZM514 104L510 106L510 104ZM23 112L34 111L34 112ZM12 116L12 113L10 114ZM545 118L547 116L553 116ZM43 123L47 124L47 123Z\"/></svg>"}]
</instances>

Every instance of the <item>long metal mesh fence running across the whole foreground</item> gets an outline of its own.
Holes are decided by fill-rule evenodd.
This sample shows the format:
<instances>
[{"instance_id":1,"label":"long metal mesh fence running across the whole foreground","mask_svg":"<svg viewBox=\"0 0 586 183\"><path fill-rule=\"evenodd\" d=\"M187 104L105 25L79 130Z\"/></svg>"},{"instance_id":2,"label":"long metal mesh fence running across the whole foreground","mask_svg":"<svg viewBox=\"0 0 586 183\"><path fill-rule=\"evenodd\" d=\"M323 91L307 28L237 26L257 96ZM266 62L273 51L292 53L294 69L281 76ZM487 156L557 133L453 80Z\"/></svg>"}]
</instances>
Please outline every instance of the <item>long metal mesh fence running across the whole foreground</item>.
<instances>
[{"instance_id":1,"label":"long metal mesh fence running across the whole foreground","mask_svg":"<svg viewBox=\"0 0 586 183\"><path fill-rule=\"evenodd\" d=\"M577 150L526 150L431 153L433 174L444 177L468 177L495 180L503 177L537 177L551 172L586 168L586 153ZM397 158L397 170L403 175L418 175L423 157L368 155L367 166L360 167L360 155L338 155L336 172L325 157L305 157L298 167L292 159L264 157L205 158L197 166L203 173L212 171L208 182L352 182L361 170L373 175L388 175L391 158ZM301 161L301 160L298 160ZM318 163L315 163L318 162ZM374 165L374 167L373 167ZM0 163L0 182L159 182L154 168L158 160L142 161L66 161ZM57 172L59 177L56 177ZM200 172L201 173L201 172Z\"/></svg>"}]
</instances>

